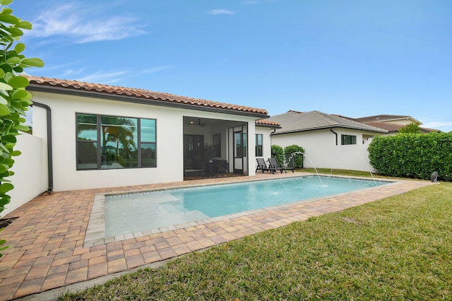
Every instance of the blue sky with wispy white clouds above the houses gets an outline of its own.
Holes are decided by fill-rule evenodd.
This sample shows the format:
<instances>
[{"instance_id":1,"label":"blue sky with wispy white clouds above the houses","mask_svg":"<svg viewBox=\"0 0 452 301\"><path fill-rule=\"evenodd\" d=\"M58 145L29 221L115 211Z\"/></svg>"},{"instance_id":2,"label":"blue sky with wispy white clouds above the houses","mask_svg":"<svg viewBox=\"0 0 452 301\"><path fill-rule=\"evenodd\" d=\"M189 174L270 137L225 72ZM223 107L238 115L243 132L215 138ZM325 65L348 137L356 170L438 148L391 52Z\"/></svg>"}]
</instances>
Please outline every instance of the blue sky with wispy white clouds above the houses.
<instances>
[{"instance_id":1,"label":"blue sky with wispy white clouds above the houses","mask_svg":"<svg viewBox=\"0 0 452 301\"><path fill-rule=\"evenodd\" d=\"M34 76L452 131L449 0L15 0Z\"/></svg>"}]
</instances>

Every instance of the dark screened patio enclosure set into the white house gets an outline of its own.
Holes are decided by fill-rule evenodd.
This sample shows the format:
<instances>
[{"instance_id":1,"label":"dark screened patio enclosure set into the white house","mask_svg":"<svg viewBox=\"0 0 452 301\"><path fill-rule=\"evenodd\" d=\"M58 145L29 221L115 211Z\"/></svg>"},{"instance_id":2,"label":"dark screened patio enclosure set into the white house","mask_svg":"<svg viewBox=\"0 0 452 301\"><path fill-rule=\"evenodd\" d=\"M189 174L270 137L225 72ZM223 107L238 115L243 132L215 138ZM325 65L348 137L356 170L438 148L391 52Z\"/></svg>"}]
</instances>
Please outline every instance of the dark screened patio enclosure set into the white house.
<instances>
[{"instance_id":1,"label":"dark screened patio enclosure set into the white house","mask_svg":"<svg viewBox=\"0 0 452 301\"><path fill-rule=\"evenodd\" d=\"M184 117L184 179L248 175L248 124Z\"/></svg>"}]
</instances>

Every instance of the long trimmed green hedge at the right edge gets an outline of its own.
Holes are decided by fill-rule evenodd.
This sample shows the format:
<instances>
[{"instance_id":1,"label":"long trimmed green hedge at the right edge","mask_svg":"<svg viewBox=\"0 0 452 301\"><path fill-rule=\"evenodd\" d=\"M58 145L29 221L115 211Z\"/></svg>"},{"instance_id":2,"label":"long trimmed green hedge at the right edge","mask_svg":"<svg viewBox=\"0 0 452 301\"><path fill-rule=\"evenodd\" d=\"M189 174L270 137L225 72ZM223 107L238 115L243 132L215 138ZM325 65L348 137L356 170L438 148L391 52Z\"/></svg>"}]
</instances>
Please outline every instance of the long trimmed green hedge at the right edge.
<instances>
[{"instance_id":1,"label":"long trimmed green hedge at the right edge","mask_svg":"<svg viewBox=\"0 0 452 301\"><path fill-rule=\"evenodd\" d=\"M370 143L370 164L380 175L452 181L452 132L376 136Z\"/></svg>"}]
</instances>

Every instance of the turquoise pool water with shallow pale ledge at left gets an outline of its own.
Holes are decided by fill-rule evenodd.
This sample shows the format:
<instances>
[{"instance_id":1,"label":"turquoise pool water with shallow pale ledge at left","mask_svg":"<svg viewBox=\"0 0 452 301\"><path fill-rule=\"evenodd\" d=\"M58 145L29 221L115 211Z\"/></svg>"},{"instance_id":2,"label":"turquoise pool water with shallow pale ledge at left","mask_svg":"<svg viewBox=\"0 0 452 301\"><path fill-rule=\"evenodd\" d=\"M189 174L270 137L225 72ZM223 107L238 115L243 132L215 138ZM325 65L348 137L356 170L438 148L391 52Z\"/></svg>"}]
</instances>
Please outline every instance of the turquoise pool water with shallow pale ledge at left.
<instances>
[{"instance_id":1,"label":"turquoise pool water with shallow pale ledge at left","mask_svg":"<svg viewBox=\"0 0 452 301\"><path fill-rule=\"evenodd\" d=\"M383 184L388 182L309 176L106 196L105 237Z\"/></svg>"}]
</instances>

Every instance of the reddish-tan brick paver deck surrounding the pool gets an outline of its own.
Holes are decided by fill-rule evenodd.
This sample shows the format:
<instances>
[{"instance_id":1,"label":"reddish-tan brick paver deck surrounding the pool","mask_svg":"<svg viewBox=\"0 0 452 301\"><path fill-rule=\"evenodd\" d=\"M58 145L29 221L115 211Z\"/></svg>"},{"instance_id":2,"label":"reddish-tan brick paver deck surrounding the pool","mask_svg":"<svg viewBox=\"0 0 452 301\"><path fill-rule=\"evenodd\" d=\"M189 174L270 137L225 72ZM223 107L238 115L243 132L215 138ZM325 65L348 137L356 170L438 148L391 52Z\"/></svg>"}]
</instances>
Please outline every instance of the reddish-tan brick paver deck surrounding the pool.
<instances>
[{"instance_id":1,"label":"reddish-tan brick paver deck surrounding the pool","mask_svg":"<svg viewBox=\"0 0 452 301\"><path fill-rule=\"evenodd\" d=\"M37 196L4 218L18 217L2 232L10 247L0 258L0 300L26 297L47 300L41 292L71 289L74 283L106 278L133 268L155 264L182 254L237 240L264 230L279 228L311 216L343 211L424 187L427 181L396 181L353 191L198 221L133 235L85 241L91 211L98 195L112 192L187 187L307 175L258 173L255 177L224 177L165 184L54 192ZM91 226L90 226L91 227ZM96 232L96 229L93 230ZM88 281L88 282L87 282ZM64 290L62 290L64 289ZM37 295L35 295L37 294ZM46 297L47 296L47 297Z\"/></svg>"}]
</instances>

